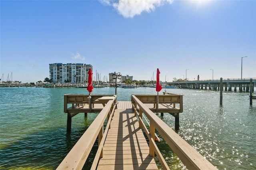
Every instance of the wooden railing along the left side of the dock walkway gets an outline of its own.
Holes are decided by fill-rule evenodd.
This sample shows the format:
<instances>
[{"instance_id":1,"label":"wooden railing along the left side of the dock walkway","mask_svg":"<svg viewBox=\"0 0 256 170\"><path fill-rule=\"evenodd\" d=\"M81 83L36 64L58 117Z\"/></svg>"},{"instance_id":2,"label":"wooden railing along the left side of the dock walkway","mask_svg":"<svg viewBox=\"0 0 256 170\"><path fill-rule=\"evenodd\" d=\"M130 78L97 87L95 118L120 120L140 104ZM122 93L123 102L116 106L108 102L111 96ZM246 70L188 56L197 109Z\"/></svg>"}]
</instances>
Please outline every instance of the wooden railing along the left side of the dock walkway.
<instances>
[{"instance_id":1,"label":"wooden railing along the left side of the dock walkway","mask_svg":"<svg viewBox=\"0 0 256 170\"><path fill-rule=\"evenodd\" d=\"M99 115L94 119L92 124L84 132L84 134L81 136L78 142L76 142L76 144L70 150L70 152L66 155L64 160L62 160L57 170L65 170L65 169L77 170L77 169L83 168L84 163L86 162L90 154L90 151L92 150L92 146L97 136L99 136L99 141L101 141L99 144L100 146L102 145L102 142L104 142L103 139L108 130L108 128L107 130L105 129L103 133L104 121L106 120L106 117L109 118L108 122L111 121L109 113L110 112L114 113L113 110L115 108L116 107L114 107L114 100L110 100L108 101L108 103L106 103L106 106L102 109ZM102 152L102 148L100 149L100 152ZM100 157L100 156L97 156L97 157Z\"/></svg>"}]
</instances>

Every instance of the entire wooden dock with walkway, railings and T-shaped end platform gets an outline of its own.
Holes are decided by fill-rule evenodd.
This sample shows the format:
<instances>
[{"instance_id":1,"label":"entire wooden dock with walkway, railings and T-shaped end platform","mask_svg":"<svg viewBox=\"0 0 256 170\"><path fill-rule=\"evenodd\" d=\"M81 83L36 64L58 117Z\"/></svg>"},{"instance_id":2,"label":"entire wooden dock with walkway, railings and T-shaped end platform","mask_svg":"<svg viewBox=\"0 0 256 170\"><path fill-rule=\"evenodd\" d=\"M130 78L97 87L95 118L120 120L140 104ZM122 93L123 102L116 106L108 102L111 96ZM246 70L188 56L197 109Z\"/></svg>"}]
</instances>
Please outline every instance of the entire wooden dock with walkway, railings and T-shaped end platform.
<instances>
[{"instance_id":1,"label":"entire wooden dock with walkway, railings and T-shaped end platform","mask_svg":"<svg viewBox=\"0 0 256 170\"><path fill-rule=\"evenodd\" d=\"M116 95L64 95L64 112L68 115L67 130L70 130L71 119L76 114L98 111L99 114L57 170L80 170L86 166L84 164L97 138L98 150L91 165L92 170L158 170L155 155L162 166L160 168L169 170L170 167L155 143L155 140L160 140L156 130L186 168L216 170L215 166L154 114L161 111L175 116L182 113L182 105L182 95L172 93L132 95L131 101L118 102ZM148 125L144 122L148 122Z\"/></svg>"}]
</instances>

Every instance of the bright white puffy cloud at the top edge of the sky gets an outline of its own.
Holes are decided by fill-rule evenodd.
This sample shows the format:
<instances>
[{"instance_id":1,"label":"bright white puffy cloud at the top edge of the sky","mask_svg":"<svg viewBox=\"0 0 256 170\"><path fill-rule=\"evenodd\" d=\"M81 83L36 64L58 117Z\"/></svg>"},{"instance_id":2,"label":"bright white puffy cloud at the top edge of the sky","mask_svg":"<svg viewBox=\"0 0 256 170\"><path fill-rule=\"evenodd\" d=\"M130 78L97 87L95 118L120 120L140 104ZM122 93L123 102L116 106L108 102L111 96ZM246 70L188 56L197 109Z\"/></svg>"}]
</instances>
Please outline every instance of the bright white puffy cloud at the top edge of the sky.
<instances>
[{"instance_id":1,"label":"bright white puffy cloud at the top edge of the sky","mask_svg":"<svg viewBox=\"0 0 256 170\"><path fill-rule=\"evenodd\" d=\"M152 12L166 2L172 4L173 0L100 0L100 2L113 6L125 18L133 18L142 12Z\"/></svg>"}]
</instances>

